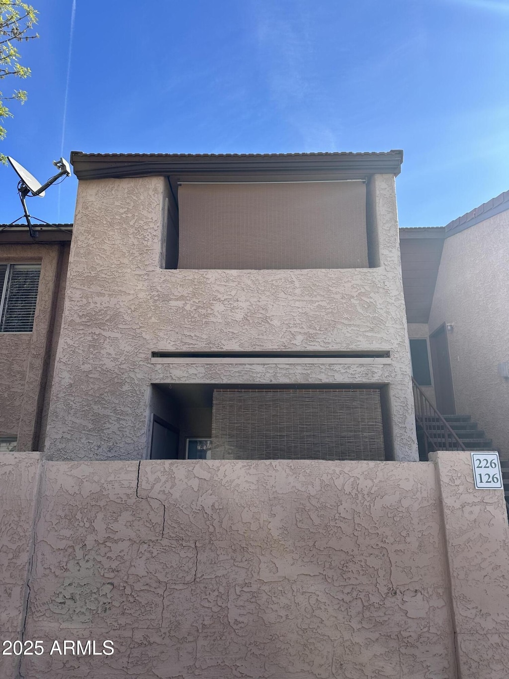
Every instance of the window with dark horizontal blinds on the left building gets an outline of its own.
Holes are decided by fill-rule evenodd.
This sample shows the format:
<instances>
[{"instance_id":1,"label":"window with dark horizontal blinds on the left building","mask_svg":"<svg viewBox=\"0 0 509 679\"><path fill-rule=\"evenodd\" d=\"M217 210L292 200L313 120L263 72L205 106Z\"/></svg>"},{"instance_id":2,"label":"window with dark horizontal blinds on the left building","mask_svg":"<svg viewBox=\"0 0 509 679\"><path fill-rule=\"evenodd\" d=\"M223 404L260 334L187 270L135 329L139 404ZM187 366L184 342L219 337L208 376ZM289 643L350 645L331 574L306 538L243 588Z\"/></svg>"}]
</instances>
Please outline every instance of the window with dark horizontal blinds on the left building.
<instances>
[{"instance_id":1,"label":"window with dark horizontal blinds on the left building","mask_svg":"<svg viewBox=\"0 0 509 679\"><path fill-rule=\"evenodd\" d=\"M40 264L0 264L0 332L32 332L40 274Z\"/></svg>"}]
</instances>

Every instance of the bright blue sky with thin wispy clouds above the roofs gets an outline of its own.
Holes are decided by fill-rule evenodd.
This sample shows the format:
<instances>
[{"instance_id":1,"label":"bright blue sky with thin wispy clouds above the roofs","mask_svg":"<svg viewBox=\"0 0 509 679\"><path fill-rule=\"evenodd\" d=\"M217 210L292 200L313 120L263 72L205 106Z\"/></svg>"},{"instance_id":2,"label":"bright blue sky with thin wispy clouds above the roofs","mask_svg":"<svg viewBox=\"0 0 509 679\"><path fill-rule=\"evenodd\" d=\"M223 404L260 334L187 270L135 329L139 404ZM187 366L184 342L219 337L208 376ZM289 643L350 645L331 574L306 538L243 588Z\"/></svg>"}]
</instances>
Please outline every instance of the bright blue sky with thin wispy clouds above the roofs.
<instances>
[{"instance_id":1,"label":"bright blue sky with thin wispy clouds above the roofs","mask_svg":"<svg viewBox=\"0 0 509 679\"><path fill-rule=\"evenodd\" d=\"M32 77L0 143L60 157L73 0L32 0ZM63 155L404 150L400 226L509 189L509 0L75 0ZM3 81L4 94L18 86ZM0 222L22 213L0 166ZM72 221L77 181L31 213Z\"/></svg>"}]
</instances>

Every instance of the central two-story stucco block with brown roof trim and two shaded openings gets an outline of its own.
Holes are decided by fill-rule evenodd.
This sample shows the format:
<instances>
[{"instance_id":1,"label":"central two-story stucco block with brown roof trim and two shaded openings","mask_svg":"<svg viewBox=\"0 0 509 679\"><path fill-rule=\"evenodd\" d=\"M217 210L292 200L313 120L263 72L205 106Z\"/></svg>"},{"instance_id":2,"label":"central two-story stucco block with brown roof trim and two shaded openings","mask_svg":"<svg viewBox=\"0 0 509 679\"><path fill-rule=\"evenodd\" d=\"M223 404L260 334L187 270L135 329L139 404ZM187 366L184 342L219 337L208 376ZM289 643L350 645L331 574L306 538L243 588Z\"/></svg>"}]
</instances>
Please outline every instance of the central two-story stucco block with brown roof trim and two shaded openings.
<instances>
[{"instance_id":1,"label":"central two-story stucco block with brown roof trim and two shaded openings","mask_svg":"<svg viewBox=\"0 0 509 679\"><path fill-rule=\"evenodd\" d=\"M401 160L73 153L52 456L417 459Z\"/></svg>"}]
</instances>

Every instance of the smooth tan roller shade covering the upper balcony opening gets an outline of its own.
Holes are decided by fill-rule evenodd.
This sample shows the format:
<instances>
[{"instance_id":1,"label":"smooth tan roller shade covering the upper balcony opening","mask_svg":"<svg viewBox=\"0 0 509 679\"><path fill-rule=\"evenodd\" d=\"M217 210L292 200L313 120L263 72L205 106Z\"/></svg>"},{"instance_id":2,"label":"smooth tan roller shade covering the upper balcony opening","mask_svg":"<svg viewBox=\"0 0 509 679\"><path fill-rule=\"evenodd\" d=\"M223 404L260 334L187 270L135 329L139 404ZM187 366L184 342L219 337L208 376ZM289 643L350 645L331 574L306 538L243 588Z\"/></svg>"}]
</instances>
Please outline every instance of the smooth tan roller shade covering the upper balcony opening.
<instances>
[{"instance_id":1,"label":"smooth tan roller shade covering the upper balcony opening","mask_svg":"<svg viewBox=\"0 0 509 679\"><path fill-rule=\"evenodd\" d=\"M366 268L362 181L183 184L179 269Z\"/></svg>"}]
</instances>

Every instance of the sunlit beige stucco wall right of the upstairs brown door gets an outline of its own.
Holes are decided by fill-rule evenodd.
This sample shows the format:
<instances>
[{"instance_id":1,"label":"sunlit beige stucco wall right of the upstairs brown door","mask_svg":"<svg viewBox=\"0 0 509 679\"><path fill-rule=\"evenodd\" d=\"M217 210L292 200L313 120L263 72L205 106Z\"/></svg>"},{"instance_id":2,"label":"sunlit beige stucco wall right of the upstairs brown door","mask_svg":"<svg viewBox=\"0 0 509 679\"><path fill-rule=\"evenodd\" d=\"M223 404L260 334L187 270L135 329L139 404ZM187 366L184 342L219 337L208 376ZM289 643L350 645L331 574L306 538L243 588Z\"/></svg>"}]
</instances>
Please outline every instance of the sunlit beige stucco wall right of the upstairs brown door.
<instances>
[{"instance_id":1,"label":"sunlit beige stucco wall right of the upstairs brown door","mask_svg":"<svg viewBox=\"0 0 509 679\"><path fill-rule=\"evenodd\" d=\"M509 459L509 211L447 238L429 327L447 333L456 411L471 415L501 456Z\"/></svg>"}]
</instances>

